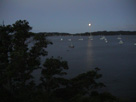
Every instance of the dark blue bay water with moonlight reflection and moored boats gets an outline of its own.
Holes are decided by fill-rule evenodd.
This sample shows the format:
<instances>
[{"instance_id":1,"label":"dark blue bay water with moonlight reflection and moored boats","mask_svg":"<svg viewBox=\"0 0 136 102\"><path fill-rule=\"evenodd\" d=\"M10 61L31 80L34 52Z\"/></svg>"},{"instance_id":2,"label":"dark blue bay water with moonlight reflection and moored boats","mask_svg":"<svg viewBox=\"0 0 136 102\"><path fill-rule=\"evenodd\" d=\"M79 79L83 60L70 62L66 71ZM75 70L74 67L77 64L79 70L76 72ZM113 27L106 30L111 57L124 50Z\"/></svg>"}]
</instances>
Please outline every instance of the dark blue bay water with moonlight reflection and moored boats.
<instances>
[{"instance_id":1,"label":"dark blue bay water with moonlight reflection and moored boats","mask_svg":"<svg viewBox=\"0 0 136 102\"><path fill-rule=\"evenodd\" d=\"M101 81L107 86L105 90L132 102L136 99L136 36L123 35L123 44L119 44L117 36L106 36L107 43L100 37L89 40L83 36L82 41L79 36L48 37L53 45L48 46L47 57L61 56L68 61L67 78L99 67L103 74ZM71 43L74 48L69 48Z\"/></svg>"}]
</instances>

